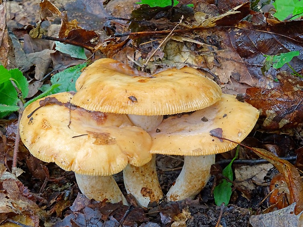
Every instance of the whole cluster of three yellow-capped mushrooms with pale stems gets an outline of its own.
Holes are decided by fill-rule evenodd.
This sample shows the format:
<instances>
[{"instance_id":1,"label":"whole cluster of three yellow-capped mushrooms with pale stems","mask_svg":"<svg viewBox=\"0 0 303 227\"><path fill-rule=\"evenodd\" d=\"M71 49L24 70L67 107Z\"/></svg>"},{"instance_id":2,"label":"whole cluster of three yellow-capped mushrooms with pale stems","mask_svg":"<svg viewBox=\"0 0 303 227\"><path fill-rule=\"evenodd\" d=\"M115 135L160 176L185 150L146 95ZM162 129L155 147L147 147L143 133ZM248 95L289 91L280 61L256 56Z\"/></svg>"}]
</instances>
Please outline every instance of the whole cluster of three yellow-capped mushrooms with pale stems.
<instances>
[{"instance_id":1,"label":"whole cluster of three yellow-capped mushrooms with pale stems","mask_svg":"<svg viewBox=\"0 0 303 227\"><path fill-rule=\"evenodd\" d=\"M223 137L240 142L259 117L256 108L222 95L215 82L187 66L149 75L100 59L84 70L76 90L29 105L21 138L35 157L75 171L88 198L112 203L126 203L111 177L122 170L126 190L139 205L163 197L154 154L184 155L167 198L193 198L207 183L215 154L237 145L219 141L210 131L220 128Z\"/></svg>"}]
</instances>

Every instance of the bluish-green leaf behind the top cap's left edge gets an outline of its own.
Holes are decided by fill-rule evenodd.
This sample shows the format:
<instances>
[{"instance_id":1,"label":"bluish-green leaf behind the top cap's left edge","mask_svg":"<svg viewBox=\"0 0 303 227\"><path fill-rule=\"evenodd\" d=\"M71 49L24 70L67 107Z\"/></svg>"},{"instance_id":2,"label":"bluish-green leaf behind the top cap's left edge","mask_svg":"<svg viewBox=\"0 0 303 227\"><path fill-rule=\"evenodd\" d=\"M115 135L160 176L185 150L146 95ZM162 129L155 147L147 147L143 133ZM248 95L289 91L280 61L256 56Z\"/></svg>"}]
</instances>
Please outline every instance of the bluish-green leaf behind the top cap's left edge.
<instances>
[{"instance_id":1,"label":"bluish-green leaf behind the top cap's left edge","mask_svg":"<svg viewBox=\"0 0 303 227\"><path fill-rule=\"evenodd\" d=\"M81 74L81 70L86 66L87 63L78 64L52 76L50 79L51 83L61 85L60 87L57 87L53 92L59 93L65 91L76 91L75 83Z\"/></svg>"}]
</instances>

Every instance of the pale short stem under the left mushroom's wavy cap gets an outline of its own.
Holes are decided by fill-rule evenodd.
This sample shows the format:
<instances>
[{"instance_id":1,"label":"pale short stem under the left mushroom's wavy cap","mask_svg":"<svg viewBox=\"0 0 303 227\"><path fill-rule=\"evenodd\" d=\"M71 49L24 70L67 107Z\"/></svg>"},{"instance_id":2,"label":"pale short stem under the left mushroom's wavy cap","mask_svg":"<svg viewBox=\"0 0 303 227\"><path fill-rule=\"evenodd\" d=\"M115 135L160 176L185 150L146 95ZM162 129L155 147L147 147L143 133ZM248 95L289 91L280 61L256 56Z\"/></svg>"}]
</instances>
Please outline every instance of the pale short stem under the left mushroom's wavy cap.
<instances>
[{"instance_id":1,"label":"pale short stem under the left mushroom's wavy cap","mask_svg":"<svg viewBox=\"0 0 303 227\"><path fill-rule=\"evenodd\" d=\"M122 194L119 186L112 176L88 176L75 173L78 187L88 199L104 201L109 203L119 203L124 205L128 202Z\"/></svg>"}]
</instances>

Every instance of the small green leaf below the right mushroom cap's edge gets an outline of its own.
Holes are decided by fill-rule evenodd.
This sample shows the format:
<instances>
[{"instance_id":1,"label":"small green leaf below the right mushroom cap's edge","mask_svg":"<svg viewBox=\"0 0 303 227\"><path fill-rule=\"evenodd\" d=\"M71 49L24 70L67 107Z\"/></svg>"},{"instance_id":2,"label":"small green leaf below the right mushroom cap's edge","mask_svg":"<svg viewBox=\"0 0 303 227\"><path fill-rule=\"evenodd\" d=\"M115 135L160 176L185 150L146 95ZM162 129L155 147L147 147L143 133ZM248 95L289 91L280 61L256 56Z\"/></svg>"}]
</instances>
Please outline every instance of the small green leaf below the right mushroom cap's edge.
<instances>
[{"instance_id":1,"label":"small green leaf below the right mushroom cap's edge","mask_svg":"<svg viewBox=\"0 0 303 227\"><path fill-rule=\"evenodd\" d=\"M230 181L234 180L232 164L235 161L235 159L238 158L238 154L239 154L239 146L236 149L236 155L233 158L233 160L222 171L223 176L229 179ZM230 197L232 195L232 185L233 185L232 183L223 179L222 182L214 188L214 198L217 206L221 206L222 203L224 203L225 206L228 205Z\"/></svg>"}]
</instances>

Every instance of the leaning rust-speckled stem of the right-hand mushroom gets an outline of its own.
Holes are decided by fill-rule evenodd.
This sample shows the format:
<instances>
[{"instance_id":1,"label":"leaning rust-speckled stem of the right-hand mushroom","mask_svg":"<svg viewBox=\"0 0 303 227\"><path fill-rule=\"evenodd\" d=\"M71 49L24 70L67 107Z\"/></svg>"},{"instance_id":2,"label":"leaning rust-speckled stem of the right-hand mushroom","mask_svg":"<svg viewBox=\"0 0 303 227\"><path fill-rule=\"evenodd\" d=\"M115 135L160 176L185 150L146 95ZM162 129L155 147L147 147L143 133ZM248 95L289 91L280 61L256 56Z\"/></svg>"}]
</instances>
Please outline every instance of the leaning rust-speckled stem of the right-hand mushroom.
<instances>
[{"instance_id":1,"label":"leaning rust-speckled stem of the right-hand mushroom","mask_svg":"<svg viewBox=\"0 0 303 227\"><path fill-rule=\"evenodd\" d=\"M194 199L195 195L207 184L213 164L215 164L215 154L185 156L182 171L168 191L167 200Z\"/></svg>"}]
</instances>

